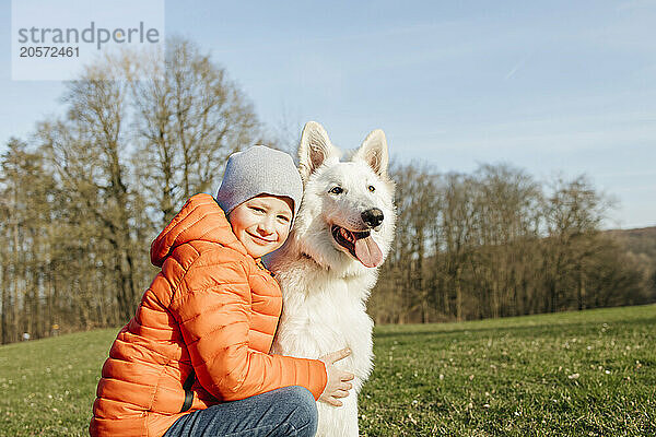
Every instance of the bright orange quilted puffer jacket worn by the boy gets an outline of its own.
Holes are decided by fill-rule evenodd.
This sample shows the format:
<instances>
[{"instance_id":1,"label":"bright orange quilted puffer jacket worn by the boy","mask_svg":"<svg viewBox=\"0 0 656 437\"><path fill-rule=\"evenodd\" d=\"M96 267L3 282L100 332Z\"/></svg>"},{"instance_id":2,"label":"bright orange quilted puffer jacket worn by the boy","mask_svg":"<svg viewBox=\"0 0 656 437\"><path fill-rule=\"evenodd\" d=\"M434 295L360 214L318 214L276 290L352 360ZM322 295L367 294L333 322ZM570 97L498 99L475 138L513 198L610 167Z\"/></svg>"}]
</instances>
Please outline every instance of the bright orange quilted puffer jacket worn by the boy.
<instances>
[{"instance_id":1,"label":"bright orange quilted puffer jacket worn by the boy","mask_svg":"<svg viewBox=\"0 0 656 437\"><path fill-rule=\"evenodd\" d=\"M92 436L162 436L183 414L285 386L319 398L324 363L269 354L280 287L211 196L187 201L153 241L151 261L162 271L112 345ZM188 378L195 382L186 393Z\"/></svg>"}]
</instances>

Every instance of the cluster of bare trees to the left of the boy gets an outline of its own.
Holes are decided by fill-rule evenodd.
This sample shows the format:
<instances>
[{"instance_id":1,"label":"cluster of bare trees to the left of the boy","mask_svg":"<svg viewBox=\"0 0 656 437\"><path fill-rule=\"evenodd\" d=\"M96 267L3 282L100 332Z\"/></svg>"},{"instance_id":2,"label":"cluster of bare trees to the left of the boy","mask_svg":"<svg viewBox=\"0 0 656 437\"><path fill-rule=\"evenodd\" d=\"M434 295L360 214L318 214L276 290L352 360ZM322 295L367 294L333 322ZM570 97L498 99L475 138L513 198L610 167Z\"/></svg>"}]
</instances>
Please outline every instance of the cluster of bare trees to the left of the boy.
<instances>
[{"instance_id":1,"label":"cluster of bare trees to the left of the boy","mask_svg":"<svg viewBox=\"0 0 656 437\"><path fill-rule=\"evenodd\" d=\"M133 55L86 68L62 116L7 144L2 343L129 320L154 275L150 240L262 141L253 104L195 44L171 38L161 70Z\"/></svg>"}]
</instances>

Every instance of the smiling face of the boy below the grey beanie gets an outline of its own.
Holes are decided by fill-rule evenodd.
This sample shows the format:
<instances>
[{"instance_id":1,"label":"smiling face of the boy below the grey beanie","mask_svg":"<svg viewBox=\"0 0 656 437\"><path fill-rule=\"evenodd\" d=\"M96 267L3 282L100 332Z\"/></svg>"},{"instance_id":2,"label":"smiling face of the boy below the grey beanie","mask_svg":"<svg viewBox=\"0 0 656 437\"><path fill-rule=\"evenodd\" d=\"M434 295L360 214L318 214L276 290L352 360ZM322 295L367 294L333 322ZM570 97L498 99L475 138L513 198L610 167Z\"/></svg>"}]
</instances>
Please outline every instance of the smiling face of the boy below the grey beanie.
<instances>
[{"instance_id":1,"label":"smiling face of the boy below the grey beanie","mask_svg":"<svg viewBox=\"0 0 656 437\"><path fill-rule=\"evenodd\" d=\"M292 205L289 198L260 194L235 206L227 221L248 255L257 259L281 247L289 236Z\"/></svg>"}]
</instances>

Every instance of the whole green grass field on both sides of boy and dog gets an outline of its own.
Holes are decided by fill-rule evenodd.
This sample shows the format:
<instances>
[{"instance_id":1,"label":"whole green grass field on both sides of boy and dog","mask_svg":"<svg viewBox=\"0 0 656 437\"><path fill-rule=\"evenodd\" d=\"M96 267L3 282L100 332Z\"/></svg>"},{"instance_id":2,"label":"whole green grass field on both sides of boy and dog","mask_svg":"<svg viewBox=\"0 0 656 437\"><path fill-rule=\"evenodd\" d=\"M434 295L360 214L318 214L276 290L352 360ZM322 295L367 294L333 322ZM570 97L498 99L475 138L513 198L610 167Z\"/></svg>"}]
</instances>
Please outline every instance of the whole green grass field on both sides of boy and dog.
<instances>
[{"instance_id":1,"label":"whole green grass field on both sides of boy and dog","mask_svg":"<svg viewBox=\"0 0 656 437\"><path fill-rule=\"evenodd\" d=\"M117 330L0 347L0 436L82 436ZM656 306L375 330L366 436L655 436Z\"/></svg>"}]
</instances>

